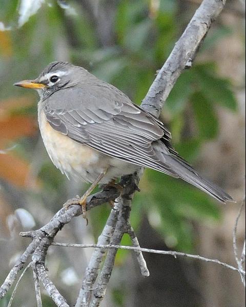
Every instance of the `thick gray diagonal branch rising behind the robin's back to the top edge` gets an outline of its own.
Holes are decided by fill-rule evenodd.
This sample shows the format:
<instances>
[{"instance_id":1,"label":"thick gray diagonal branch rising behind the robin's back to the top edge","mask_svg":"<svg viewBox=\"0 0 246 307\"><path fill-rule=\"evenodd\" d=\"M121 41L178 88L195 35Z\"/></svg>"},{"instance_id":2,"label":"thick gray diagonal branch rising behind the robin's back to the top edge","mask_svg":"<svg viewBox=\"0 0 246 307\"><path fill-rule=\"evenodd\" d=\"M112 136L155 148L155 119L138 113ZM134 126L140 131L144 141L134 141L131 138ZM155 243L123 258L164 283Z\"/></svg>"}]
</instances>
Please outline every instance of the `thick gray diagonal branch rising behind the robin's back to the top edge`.
<instances>
[{"instance_id":1,"label":"thick gray diagonal branch rising behind the robin's back to the top edge","mask_svg":"<svg viewBox=\"0 0 246 307\"><path fill-rule=\"evenodd\" d=\"M178 77L184 69L191 67L201 42L225 4L226 0L203 0L150 86L141 104L143 108L159 117Z\"/></svg>"}]
</instances>

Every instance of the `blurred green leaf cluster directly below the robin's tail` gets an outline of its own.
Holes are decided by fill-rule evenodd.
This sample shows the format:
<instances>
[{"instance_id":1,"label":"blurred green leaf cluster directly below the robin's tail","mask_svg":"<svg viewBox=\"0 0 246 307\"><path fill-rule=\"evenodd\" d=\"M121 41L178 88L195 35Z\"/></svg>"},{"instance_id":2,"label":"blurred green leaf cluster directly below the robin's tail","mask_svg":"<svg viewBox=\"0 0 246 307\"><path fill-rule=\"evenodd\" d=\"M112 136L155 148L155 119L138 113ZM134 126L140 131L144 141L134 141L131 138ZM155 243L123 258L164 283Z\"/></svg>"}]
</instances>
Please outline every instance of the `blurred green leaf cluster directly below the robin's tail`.
<instances>
[{"instance_id":1,"label":"blurred green leaf cluster directly below the robin's tail","mask_svg":"<svg viewBox=\"0 0 246 307\"><path fill-rule=\"evenodd\" d=\"M192 250L191 219L219 220L213 199L188 183L147 169L144 185L138 196L142 206L150 214L154 210L157 222L160 219L159 223L151 223L152 227L163 235L167 244L175 245L176 241L177 249Z\"/></svg>"}]
</instances>

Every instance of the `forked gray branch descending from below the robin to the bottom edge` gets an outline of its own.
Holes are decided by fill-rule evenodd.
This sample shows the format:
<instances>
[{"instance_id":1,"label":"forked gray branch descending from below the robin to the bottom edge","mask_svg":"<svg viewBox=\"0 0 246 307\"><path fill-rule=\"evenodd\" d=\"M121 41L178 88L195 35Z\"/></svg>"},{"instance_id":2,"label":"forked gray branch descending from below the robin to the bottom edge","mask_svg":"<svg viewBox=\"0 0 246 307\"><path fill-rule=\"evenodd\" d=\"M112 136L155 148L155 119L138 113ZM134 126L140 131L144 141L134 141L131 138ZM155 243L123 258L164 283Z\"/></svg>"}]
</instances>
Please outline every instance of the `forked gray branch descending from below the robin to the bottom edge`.
<instances>
[{"instance_id":1,"label":"forked gray branch descending from below the robin to the bottom edge","mask_svg":"<svg viewBox=\"0 0 246 307\"><path fill-rule=\"evenodd\" d=\"M131 206L131 198L135 190L138 190L139 177L135 173L133 176L124 176L121 178L120 184L123 188L121 196L117 199L114 204L114 209L110 213L110 217L104 227L102 235L99 236L97 244L113 244L113 241L118 239L126 232L125 225L129 225L129 210ZM124 204L124 207L122 207ZM112 227L113 226L113 227ZM110 231L109 231L110 229ZM107 234L107 235L105 235ZM120 243L119 240L119 243ZM100 242L100 243L99 243ZM106 242L106 243L105 243ZM119 244L118 243L118 244ZM90 305L91 297L95 297L95 292L98 290L100 293L105 294L107 282L111 276L112 268L114 265L114 258L116 250L107 254L104 268L101 270L99 281L94 286L96 279L99 274L100 266L104 260L104 254L98 256L99 251L95 249L92 254L90 263L86 270L82 287L79 291L79 295L76 301L75 307L83 306L87 307ZM90 274L92 273L92 275ZM104 278L107 275L108 278ZM106 282L107 280L107 282ZM98 300L103 299L104 295L100 295ZM97 296L97 294L96 294Z\"/></svg>"}]
</instances>

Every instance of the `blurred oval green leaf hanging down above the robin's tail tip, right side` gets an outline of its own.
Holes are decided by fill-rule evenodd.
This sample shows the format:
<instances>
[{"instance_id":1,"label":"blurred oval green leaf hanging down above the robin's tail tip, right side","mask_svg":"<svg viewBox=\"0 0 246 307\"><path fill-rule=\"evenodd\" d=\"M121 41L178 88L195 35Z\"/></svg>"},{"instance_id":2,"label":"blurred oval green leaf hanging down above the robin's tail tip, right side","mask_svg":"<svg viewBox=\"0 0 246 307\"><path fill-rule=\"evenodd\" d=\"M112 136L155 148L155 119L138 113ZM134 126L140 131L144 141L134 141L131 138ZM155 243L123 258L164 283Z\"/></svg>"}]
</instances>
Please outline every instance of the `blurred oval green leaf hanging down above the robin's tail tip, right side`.
<instances>
[{"instance_id":1,"label":"blurred oval green leaf hanging down above the robin's tail tip, right side","mask_svg":"<svg viewBox=\"0 0 246 307\"><path fill-rule=\"evenodd\" d=\"M191 97L196 124L199 129L199 138L213 139L218 133L218 119L213 105L201 92L196 92Z\"/></svg>"}]
</instances>

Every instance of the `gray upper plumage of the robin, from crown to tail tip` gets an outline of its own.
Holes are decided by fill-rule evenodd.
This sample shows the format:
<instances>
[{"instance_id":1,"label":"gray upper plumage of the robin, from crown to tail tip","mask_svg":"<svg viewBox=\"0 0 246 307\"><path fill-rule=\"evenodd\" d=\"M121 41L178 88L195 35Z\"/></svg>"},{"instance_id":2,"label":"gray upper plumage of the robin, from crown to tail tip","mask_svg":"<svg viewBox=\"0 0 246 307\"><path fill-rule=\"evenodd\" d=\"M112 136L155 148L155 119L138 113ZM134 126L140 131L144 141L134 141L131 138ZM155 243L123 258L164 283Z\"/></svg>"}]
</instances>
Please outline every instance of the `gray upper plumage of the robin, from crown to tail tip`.
<instances>
[{"instance_id":1,"label":"gray upper plumage of the robin, from crown to tail tip","mask_svg":"<svg viewBox=\"0 0 246 307\"><path fill-rule=\"evenodd\" d=\"M51 75L59 80L50 84ZM225 202L229 194L203 179L173 149L163 124L111 84L83 68L53 62L34 80L40 104L53 129L104 155L181 178Z\"/></svg>"}]
</instances>

